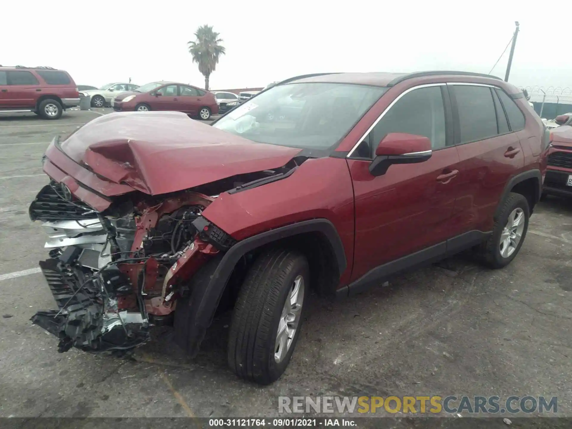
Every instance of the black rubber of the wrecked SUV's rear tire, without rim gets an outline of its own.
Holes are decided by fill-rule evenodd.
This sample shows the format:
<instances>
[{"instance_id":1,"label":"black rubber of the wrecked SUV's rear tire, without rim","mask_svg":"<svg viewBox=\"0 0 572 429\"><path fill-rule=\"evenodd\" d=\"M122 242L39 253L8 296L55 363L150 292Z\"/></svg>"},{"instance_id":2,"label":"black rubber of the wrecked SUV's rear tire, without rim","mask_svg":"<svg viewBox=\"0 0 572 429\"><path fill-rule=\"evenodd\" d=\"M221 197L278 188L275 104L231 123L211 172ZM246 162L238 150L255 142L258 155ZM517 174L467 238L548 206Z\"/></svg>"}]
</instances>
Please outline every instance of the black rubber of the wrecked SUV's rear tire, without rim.
<instances>
[{"instance_id":1,"label":"black rubber of the wrecked SUV's rear tire, without rim","mask_svg":"<svg viewBox=\"0 0 572 429\"><path fill-rule=\"evenodd\" d=\"M503 257L501 255L501 235L507 221L509 220L509 215L515 209L522 209L524 216L524 229L521 234L521 239L517 244L517 247L508 257ZM494 228L492 229L492 234L480 247L480 255L483 262L490 268L503 268L511 263L511 261L518 255L521 250L522 244L525 242L526 232L529 229L529 217L530 209L529 203L526 197L514 192L509 193L505 202L502 205L501 214L498 220L495 222Z\"/></svg>"}]
</instances>

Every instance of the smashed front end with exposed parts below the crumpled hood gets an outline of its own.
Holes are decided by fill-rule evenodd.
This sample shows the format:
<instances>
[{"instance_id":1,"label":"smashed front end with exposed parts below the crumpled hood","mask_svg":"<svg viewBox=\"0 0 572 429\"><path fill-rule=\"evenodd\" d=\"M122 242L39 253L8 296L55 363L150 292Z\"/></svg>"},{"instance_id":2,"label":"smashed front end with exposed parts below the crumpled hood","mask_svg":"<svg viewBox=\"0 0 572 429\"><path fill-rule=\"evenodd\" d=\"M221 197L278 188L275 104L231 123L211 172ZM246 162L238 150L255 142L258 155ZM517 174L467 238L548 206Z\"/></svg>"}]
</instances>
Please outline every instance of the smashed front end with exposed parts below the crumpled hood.
<instances>
[{"instance_id":1,"label":"smashed front end with exposed parts below the crumpled hood","mask_svg":"<svg viewBox=\"0 0 572 429\"><path fill-rule=\"evenodd\" d=\"M98 213L51 182L30 205L49 259L39 263L58 309L31 320L59 338L58 351L118 351L168 324L185 280L233 244L201 216L213 201L181 192L159 202L124 196ZM215 244L215 245L213 245Z\"/></svg>"}]
</instances>

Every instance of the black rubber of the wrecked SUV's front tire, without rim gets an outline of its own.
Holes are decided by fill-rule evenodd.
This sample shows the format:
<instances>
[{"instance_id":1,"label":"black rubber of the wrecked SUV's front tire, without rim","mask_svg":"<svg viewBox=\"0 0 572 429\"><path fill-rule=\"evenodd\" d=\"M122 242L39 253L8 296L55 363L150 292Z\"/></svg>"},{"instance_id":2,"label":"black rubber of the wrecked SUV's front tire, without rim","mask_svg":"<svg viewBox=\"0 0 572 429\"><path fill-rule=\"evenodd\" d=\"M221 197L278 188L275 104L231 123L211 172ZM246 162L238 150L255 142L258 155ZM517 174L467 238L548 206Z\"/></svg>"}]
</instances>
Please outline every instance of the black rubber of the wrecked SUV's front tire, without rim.
<instances>
[{"instance_id":1,"label":"black rubber of the wrecked SUV's front tire, without rim","mask_svg":"<svg viewBox=\"0 0 572 429\"><path fill-rule=\"evenodd\" d=\"M298 276L304 297L292 342L283 359L275 360L279 322ZM232 315L228 364L236 375L259 384L275 382L288 366L308 307L309 267L304 255L275 248L263 252L249 269Z\"/></svg>"}]
</instances>

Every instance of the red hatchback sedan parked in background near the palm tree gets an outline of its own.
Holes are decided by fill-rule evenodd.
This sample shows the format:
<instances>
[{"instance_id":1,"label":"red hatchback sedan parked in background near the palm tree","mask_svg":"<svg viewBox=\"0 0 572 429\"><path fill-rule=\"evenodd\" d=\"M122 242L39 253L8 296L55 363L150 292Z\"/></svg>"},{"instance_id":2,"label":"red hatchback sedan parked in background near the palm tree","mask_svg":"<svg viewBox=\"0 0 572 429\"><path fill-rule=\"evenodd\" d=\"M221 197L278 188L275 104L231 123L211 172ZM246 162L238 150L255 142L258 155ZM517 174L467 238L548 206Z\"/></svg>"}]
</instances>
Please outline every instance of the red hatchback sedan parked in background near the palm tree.
<instances>
[{"instance_id":1,"label":"red hatchback sedan parked in background near the palm tree","mask_svg":"<svg viewBox=\"0 0 572 429\"><path fill-rule=\"evenodd\" d=\"M133 92L125 92L114 98L113 110L117 112L172 110L208 120L219 113L215 94L177 82L151 82Z\"/></svg>"}]
</instances>

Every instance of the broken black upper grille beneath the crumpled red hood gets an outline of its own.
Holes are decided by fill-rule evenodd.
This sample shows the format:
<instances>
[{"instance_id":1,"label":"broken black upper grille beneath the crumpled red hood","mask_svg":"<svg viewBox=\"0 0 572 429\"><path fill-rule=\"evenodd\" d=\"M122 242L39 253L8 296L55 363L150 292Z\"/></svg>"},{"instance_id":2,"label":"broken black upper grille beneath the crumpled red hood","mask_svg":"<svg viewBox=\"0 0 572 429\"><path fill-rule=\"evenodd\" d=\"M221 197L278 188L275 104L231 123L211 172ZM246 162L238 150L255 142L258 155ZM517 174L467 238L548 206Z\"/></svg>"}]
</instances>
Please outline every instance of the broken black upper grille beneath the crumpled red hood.
<instances>
[{"instance_id":1,"label":"broken black upper grille beneath the crumpled red hood","mask_svg":"<svg viewBox=\"0 0 572 429\"><path fill-rule=\"evenodd\" d=\"M30 219L45 222L58 220L92 219L94 210L81 201L73 203L59 197L55 190L46 185L30 204Z\"/></svg>"}]
</instances>

